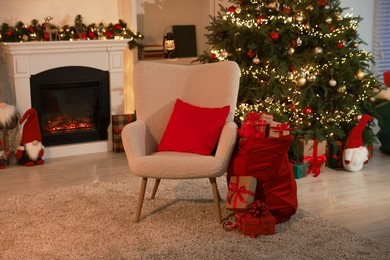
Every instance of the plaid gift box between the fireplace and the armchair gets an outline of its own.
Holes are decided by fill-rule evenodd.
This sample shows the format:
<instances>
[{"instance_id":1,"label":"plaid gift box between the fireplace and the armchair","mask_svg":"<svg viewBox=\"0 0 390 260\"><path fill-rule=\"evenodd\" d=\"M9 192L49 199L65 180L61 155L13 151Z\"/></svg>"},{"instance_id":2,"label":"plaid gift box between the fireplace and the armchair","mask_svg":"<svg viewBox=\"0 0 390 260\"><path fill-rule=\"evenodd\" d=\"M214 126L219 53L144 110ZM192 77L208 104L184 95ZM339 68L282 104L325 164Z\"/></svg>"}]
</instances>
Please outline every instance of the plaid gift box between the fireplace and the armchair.
<instances>
[{"instance_id":1,"label":"plaid gift box between the fireplace and the armchair","mask_svg":"<svg viewBox=\"0 0 390 260\"><path fill-rule=\"evenodd\" d=\"M124 152L122 144L122 129L125 125L136 120L135 114L123 114L112 116L112 150L120 153Z\"/></svg>"}]
</instances>

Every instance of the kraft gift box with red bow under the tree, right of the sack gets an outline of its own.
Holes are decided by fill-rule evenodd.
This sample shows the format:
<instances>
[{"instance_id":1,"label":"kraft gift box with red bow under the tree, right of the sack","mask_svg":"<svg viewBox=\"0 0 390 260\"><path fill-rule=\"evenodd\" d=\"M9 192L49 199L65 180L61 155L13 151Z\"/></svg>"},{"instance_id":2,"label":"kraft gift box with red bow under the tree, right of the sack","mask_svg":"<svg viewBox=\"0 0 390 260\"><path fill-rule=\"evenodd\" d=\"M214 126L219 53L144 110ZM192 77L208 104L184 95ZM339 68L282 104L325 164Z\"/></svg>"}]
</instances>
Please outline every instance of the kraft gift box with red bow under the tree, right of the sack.
<instances>
[{"instance_id":1,"label":"kraft gift box with red bow under the tree, right of the sack","mask_svg":"<svg viewBox=\"0 0 390 260\"><path fill-rule=\"evenodd\" d=\"M321 168L325 167L326 145L326 141L317 142L315 139L308 141L299 140L299 147L303 154L300 161L308 164L307 174L313 173L314 177L317 177L321 172Z\"/></svg>"}]
</instances>

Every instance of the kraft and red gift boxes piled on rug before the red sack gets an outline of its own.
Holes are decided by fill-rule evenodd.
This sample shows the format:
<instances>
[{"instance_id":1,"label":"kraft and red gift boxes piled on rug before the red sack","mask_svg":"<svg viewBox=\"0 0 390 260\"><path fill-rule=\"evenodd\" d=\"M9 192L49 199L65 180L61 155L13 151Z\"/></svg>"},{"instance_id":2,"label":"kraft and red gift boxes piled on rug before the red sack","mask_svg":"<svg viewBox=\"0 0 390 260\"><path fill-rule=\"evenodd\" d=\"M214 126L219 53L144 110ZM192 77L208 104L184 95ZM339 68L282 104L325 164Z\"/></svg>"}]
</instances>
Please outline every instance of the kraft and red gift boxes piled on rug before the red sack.
<instances>
[{"instance_id":1,"label":"kraft and red gift boxes piled on rug before the red sack","mask_svg":"<svg viewBox=\"0 0 390 260\"><path fill-rule=\"evenodd\" d=\"M268 211L265 202L254 201L256 184L256 178L251 176L231 177L226 208L236 211L236 223L225 221L223 223L225 230L238 228L244 235L252 238L275 234L275 217Z\"/></svg>"}]
</instances>

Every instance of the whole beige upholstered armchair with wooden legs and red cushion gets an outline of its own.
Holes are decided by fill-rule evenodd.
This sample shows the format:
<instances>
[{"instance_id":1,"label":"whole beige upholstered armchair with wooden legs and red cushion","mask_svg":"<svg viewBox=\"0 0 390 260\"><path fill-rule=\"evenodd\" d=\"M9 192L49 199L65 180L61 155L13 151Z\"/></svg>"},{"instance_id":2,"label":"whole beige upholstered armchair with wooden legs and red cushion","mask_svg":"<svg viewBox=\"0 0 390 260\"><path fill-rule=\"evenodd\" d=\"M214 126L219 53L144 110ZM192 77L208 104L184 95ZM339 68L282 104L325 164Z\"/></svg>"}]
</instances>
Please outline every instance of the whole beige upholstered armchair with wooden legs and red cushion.
<instances>
[{"instance_id":1,"label":"whole beige upholstered armchair with wooden legs and red cushion","mask_svg":"<svg viewBox=\"0 0 390 260\"><path fill-rule=\"evenodd\" d=\"M237 126L233 122L233 117L237 102L239 78L239 67L231 61L197 65L140 62L135 65L134 99L137 120L126 125L122 131L123 146L130 172L142 177L135 222L139 221L141 215L146 184L149 178L155 179L152 199L155 197L161 179L209 178L217 218L219 222L222 222L216 177L220 177L226 172L236 142ZM187 141L189 143L195 142L195 145L202 141L191 140L191 136L190 140L182 141L183 139L180 138L183 134L176 133L173 133L173 137L179 138L177 145L184 150L170 150L169 146L168 148L162 148L160 142L163 136L167 134L168 122L172 123L170 121L173 120L171 115L174 110L179 109L176 107L177 99L185 102L184 105L189 106L190 110L193 108L192 106L195 106L195 110L191 110L195 112L198 111L196 110L197 107L207 109L229 106L226 119L223 118L221 129L217 132L215 140L217 144L211 154L188 152L185 149ZM208 115L212 115L212 113L207 112L205 118L209 117ZM190 124L202 119L199 118L198 114L191 115L189 113L184 114L184 116ZM209 122L206 122L207 120ZM186 121L185 118L184 121ZM217 118L214 120L211 116L211 120L210 118L205 119L205 122L197 123L195 128L202 128L202 130L199 130L200 132L208 131L208 124L211 123L212 125L216 121ZM185 129L187 127L181 125L181 122L176 122L175 126L178 127L171 125L170 130L175 131L175 128ZM191 127L188 132L194 130L193 128ZM194 134L200 133L198 129L195 130ZM209 136L208 134L201 134L199 138L203 137Z\"/></svg>"}]
</instances>

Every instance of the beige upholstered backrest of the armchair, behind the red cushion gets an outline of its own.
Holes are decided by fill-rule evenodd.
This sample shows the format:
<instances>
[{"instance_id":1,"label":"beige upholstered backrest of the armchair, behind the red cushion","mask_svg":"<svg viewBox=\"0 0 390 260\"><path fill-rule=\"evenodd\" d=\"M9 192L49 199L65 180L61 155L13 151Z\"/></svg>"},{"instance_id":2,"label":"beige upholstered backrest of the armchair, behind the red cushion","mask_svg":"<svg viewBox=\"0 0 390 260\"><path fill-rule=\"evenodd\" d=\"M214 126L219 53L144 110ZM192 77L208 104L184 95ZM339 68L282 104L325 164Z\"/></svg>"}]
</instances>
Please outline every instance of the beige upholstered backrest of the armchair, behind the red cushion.
<instances>
[{"instance_id":1,"label":"beige upholstered backrest of the armchair, behind the red cushion","mask_svg":"<svg viewBox=\"0 0 390 260\"><path fill-rule=\"evenodd\" d=\"M200 107L230 105L232 121L237 104L240 69L232 61L177 65L139 62L134 67L137 120L146 122L154 150L164 134L177 98ZM152 151L147 151L152 152Z\"/></svg>"}]
</instances>

